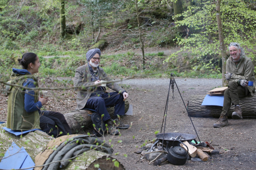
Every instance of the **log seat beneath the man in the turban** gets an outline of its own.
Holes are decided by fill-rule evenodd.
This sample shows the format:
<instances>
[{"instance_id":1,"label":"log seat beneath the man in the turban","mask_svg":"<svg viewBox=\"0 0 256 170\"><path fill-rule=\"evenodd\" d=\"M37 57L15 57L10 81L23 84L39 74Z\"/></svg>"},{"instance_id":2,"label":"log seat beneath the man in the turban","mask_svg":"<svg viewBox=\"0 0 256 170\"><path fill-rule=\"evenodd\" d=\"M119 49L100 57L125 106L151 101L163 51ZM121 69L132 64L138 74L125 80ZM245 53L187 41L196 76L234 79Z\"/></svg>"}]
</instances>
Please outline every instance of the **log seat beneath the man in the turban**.
<instances>
[{"instance_id":1,"label":"log seat beneath the man in the turban","mask_svg":"<svg viewBox=\"0 0 256 170\"><path fill-rule=\"evenodd\" d=\"M125 113L129 109L129 102L125 100ZM107 108L108 113L110 116L113 116L114 113L114 107ZM79 133L84 128L92 127L92 120L88 114L92 114L93 112L90 110L76 110L71 111L69 113L65 113L64 116L67 120L68 125L71 128L71 131L73 134Z\"/></svg>"}]
</instances>

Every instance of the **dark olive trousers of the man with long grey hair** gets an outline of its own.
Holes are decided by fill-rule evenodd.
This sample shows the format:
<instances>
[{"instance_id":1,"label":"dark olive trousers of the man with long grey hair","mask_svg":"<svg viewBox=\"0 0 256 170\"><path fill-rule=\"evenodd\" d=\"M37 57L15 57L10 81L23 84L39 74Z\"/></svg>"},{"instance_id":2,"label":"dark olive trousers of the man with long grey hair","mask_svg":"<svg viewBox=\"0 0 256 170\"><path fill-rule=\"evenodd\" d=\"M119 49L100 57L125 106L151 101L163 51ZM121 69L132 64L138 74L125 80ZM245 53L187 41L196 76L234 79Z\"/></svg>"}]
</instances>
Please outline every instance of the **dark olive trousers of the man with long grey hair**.
<instances>
[{"instance_id":1,"label":"dark olive trousers of the man with long grey hair","mask_svg":"<svg viewBox=\"0 0 256 170\"><path fill-rule=\"evenodd\" d=\"M224 102L221 115L225 115L231 104L239 105L239 98L250 96L247 87L239 85L237 82L228 82L228 88L224 91Z\"/></svg>"}]
</instances>

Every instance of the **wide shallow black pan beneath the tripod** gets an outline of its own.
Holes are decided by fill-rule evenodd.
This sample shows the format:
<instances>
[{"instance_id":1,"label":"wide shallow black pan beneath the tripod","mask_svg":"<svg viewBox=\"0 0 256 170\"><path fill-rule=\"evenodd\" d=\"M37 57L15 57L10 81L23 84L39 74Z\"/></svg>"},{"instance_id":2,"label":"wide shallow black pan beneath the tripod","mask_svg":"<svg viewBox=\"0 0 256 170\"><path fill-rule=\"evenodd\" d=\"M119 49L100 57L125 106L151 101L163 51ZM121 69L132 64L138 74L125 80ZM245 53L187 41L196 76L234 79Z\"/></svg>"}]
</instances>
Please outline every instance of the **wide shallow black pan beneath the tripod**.
<instances>
[{"instance_id":1,"label":"wide shallow black pan beneath the tripod","mask_svg":"<svg viewBox=\"0 0 256 170\"><path fill-rule=\"evenodd\" d=\"M163 138L164 136L164 138ZM183 141L188 141L191 142L192 140L195 140L196 136L189 134L189 133L158 133L156 135L157 139L159 139L160 142L163 142L163 144L166 145L166 142L169 142L169 146L174 146L173 142L175 140L173 140L172 138L175 138L177 136L182 136L183 139L179 139L179 141L183 142ZM196 140L195 140L196 142ZM197 142L196 142L197 143Z\"/></svg>"}]
</instances>

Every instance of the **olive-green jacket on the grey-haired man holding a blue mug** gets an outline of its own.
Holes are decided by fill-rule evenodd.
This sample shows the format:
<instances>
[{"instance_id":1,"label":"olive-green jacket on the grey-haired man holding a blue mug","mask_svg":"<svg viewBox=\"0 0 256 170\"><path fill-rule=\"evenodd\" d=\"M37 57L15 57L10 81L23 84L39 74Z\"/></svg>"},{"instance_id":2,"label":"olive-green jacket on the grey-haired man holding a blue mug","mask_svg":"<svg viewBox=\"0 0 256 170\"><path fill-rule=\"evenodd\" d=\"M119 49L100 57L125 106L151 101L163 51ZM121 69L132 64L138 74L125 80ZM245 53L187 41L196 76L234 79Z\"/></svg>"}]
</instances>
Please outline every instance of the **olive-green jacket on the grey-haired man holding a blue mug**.
<instances>
[{"instance_id":1,"label":"olive-green jacket on the grey-haired man holding a blue mug","mask_svg":"<svg viewBox=\"0 0 256 170\"><path fill-rule=\"evenodd\" d=\"M238 82L239 79L245 79L247 81L253 81L253 86L247 86L250 91L251 96L254 95L256 80L254 77L254 65L250 58L242 57L238 65L236 66L232 57L229 57L226 62L226 71L228 73L233 73L228 81Z\"/></svg>"}]
</instances>

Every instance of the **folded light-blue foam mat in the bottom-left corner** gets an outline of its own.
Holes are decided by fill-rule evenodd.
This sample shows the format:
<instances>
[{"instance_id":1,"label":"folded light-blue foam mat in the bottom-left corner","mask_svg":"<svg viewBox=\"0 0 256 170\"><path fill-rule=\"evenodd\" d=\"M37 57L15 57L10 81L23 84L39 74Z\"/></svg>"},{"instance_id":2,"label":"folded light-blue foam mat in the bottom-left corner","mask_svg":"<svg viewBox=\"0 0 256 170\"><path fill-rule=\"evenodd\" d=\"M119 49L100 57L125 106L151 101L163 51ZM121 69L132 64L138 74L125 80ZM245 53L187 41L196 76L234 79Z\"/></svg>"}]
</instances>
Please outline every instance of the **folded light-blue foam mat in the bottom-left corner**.
<instances>
[{"instance_id":1,"label":"folded light-blue foam mat in the bottom-left corner","mask_svg":"<svg viewBox=\"0 0 256 170\"><path fill-rule=\"evenodd\" d=\"M26 152L24 147L18 147L17 144L12 142L12 146L6 151L2 161L0 162L0 169L25 169L33 170L35 163Z\"/></svg>"}]
</instances>

